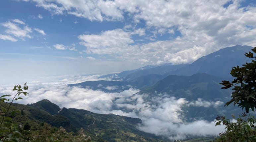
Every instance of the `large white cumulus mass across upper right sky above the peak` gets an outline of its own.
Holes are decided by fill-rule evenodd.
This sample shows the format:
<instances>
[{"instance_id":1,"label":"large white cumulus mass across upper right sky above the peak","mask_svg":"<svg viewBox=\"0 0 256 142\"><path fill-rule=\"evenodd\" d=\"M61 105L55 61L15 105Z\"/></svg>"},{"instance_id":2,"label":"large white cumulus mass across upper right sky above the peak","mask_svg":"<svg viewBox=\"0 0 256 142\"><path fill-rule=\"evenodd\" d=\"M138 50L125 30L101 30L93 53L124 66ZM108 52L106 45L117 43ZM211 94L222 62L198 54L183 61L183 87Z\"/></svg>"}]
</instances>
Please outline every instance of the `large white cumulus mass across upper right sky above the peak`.
<instances>
[{"instance_id":1,"label":"large white cumulus mass across upper right sky above the peak","mask_svg":"<svg viewBox=\"0 0 256 142\"><path fill-rule=\"evenodd\" d=\"M150 0L148 3L143 0L32 1L52 14L72 14L91 21L123 20L128 16L134 25L128 23L124 29L136 27L137 23L145 27L130 32L114 29L98 35L80 35L81 44L91 54L109 54L133 61L143 56L150 64L159 64L159 60L182 64L223 47L256 44L256 19L251 18L256 14L256 8L243 7L239 0L232 0L225 7L230 0ZM136 44L132 34L145 36L146 40L154 42ZM156 40L164 34L169 34L168 40Z\"/></svg>"}]
</instances>

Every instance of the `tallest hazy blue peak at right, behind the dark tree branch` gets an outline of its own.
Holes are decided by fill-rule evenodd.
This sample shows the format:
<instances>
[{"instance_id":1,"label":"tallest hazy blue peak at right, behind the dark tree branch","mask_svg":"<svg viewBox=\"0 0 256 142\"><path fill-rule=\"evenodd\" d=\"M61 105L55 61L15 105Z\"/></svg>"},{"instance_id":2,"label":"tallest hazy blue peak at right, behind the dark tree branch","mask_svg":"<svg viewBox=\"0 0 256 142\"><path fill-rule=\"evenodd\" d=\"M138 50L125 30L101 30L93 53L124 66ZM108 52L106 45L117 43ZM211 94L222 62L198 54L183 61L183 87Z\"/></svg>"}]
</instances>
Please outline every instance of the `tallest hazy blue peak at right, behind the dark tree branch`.
<instances>
[{"instance_id":1,"label":"tallest hazy blue peak at right, behind the dark tree branch","mask_svg":"<svg viewBox=\"0 0 256 142\"><path fill-rule=\"evenodd\" d=\"M244 56L244 53L250 51L252 48L246 45L226 47L207 56L203 56L188 66L179 68L176 71L169 71L164 75L190 76L195 73L208 73L226 78L230 76L229 72L232 67L251 61L250 58Z\"/></svg>"}]
</instances>

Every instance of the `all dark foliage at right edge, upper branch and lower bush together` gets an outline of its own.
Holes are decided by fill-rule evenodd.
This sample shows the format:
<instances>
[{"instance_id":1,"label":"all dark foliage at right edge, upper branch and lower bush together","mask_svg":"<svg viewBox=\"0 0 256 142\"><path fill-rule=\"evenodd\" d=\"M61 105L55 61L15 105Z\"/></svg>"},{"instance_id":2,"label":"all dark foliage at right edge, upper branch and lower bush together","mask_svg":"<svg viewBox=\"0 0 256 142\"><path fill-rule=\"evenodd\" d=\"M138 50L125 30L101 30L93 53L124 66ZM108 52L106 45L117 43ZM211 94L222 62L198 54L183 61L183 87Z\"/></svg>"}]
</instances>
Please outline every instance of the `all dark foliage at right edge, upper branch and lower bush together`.
<instances>
[{"instance_id":1,"label":"all dark foliage at right edge, upper branch and lower bush together","mask_svg":"<svg viewBox=\"0 0 256 142\"><path fill-rule=\"evenodd\" d=\"M256 47L252 49L256 53ZM253 57L253 53L244 54L248 58L253 58L250 63L245 63L242 67L233 67L230 74L235 77L235 79L230 83L229 81L223 80L222 89L227 89L233 87L232 99L226 102L225 106L230 103L238 104L238 106L245 108L246 113L249 113L251 109L254 111L256 108L256 57ZM248 116L243 113L239 115L238 119L235 119L232 115L234 121L226 119L224 116L216 117L216 126L224 125L225 132L219 133L219 137L214 142L255 142L256 141L256 119L254 116Z\"/></svg>"}]
</instances>

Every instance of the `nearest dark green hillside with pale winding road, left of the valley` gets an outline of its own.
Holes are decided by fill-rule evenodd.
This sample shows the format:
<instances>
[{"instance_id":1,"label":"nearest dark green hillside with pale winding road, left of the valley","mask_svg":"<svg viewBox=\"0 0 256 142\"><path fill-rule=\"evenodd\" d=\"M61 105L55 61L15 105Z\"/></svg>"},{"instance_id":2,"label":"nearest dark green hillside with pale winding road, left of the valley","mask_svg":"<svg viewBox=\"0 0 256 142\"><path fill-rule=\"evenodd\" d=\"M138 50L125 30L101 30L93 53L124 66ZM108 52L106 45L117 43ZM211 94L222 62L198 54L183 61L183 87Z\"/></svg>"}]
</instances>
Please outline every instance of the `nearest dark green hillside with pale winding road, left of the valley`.
<instances>
[{"instance_id":1,"label":"nearest dark green hillside with pale winding road, left of the valley","mask_svg":"<svg viewBox=\"0 0 256 142\"><path fill-rule=\"evenodd\" d=\"M0 102L1 107L7 107L7 105L7 103ZM48 107L45 107L47 105ZM44 122L53 127L62 126L68 131L84 128L86 134L91 136L94 142L164 141L160 136L138 130L137 125L141 123L138 118L96 114L87 110L65 107L56 112L55 110L58 110L56 106L47 99L31 105L14 103L10 111L16 110L22 113L17 113L15 116L8 114L8 117L11 117L12 121L19 126L29 122L32 130L37 129Z\"/></svg>"}]
</instances>

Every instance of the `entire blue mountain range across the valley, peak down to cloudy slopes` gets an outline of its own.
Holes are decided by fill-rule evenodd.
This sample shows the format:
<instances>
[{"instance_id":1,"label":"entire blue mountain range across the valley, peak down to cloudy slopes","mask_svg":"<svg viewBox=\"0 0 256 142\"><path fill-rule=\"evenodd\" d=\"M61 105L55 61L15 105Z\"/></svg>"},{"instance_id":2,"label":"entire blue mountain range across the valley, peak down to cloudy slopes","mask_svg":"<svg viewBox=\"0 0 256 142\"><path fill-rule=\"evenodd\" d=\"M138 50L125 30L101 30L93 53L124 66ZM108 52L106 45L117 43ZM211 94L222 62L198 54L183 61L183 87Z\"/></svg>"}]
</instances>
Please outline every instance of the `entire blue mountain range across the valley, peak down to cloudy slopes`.
<instances>
[{"instance_id":1,"label":"entire blue mountain range across the valley, peak down to cloudy slopes","mask_svg":"<svg viewBox=\"0 0 256 142\"><path fill-rule=\"evenodd\" d=\"M177 104L180 110L169 111L169 113L177 113L176 119L172 120L174 123L213 121L217 115L230 118L231 114L238 116L243 111L231 105L224 107L224 103L230 100L232 90L220 89L222 86L219 83L221 80L232 79L229 72L233 66L241 66L251 61L244 56L244 53L252 48L246 45L226 47L203 56L191 64L145 66L136 70L100 76L111 81L86 81L70 86L109 93L122 92L129 88L139 89L140 91L132 96L113 99L111 109L134 113L140 118L152 118L153 116L145 112L156 113L157 110L162 109L165 100L170 98L183 99L183 103ZM167 107L164 109L167 110Z\"/></svg>"}]
</instances>

